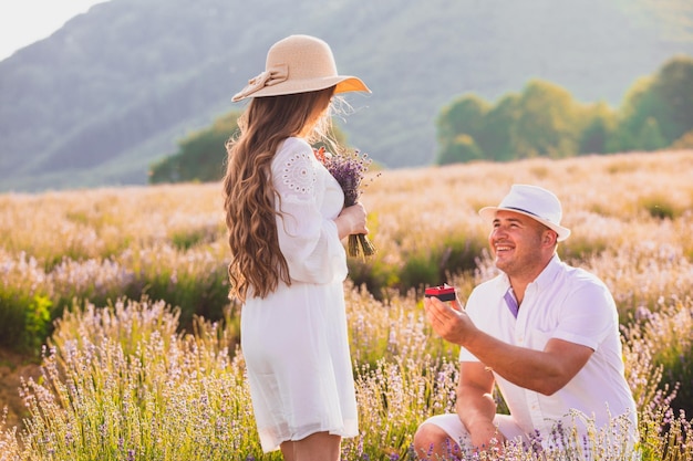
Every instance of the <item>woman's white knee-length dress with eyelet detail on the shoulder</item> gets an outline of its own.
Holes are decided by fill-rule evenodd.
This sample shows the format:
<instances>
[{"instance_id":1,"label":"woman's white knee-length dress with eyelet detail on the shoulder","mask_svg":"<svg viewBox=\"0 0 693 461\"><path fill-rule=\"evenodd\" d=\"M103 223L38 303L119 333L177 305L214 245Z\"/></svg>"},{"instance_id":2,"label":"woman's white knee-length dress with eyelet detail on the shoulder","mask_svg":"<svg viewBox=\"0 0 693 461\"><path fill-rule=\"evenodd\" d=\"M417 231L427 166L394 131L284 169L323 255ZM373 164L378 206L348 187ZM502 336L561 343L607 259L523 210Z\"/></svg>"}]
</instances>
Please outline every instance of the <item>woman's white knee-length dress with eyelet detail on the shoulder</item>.
<instances>
[{"instance_id":1,"label":"woman's white knee-length dress with eyelet detail on the shoulder","mask_svg":"<svg viewBox=\"0 0 693 461\"><path fill-rule=\"evenodd\" d=\"M241 348L265 452L328 431L358 434L343 281L346 255L333 219L344 196L302 139L288 138L272 161L279 245L291 286L249 294Z\"/></svg>"}]
</instances>

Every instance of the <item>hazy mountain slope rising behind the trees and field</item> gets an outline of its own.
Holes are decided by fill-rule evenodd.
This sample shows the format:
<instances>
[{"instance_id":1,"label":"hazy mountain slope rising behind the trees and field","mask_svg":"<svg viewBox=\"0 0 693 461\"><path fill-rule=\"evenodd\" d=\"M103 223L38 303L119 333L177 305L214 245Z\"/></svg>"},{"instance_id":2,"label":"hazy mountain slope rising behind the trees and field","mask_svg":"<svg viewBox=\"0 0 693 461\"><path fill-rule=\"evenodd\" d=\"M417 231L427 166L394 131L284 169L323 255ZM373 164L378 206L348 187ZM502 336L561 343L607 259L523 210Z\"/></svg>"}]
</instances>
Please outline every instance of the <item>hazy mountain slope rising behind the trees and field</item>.
<instances>
[{"instance_id":1,"label":"hazy mountain slope rising behind the trees and field","mask_svg":"<svg viewBox=\"0 0 693 461\"><path fill-rule=\"evenodd\" d=\"M691 24L687 0L111 0L0 62L0 191L146 184L178 139L242 108L231 95L291 33L373 90L341 128L399 168L433 161L435 117L464 93L542 78L618 105L693 55Z\"/></svg>"}]
</instances>

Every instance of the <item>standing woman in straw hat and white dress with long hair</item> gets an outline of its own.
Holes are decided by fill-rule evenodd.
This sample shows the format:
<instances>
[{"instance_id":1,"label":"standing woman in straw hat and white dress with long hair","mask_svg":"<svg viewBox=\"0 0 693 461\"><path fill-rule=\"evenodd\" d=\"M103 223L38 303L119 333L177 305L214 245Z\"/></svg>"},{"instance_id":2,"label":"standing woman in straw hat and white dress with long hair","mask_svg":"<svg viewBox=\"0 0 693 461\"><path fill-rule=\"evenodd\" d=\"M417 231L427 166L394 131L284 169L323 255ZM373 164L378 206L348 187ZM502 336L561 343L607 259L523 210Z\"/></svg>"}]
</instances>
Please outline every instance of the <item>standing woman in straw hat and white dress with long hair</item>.
<instances>
[{"instance_id":1,"label":"standing woman in straw hat and white dress with long hair","mask_svg":"<svg viewBox=\"0 0 693 461\"><path fill-rule=\"evenodd\" d=\"M365 210L344 208L316 158L333 95L370 92L337 73L322 40L291 35L266 71L234 96L251 97L229 140L224 179L234 294L244 303L241 348L262 450L285 460L339 460L358 434L341 240L368 233Z\"/></svg>"}]
</instances>

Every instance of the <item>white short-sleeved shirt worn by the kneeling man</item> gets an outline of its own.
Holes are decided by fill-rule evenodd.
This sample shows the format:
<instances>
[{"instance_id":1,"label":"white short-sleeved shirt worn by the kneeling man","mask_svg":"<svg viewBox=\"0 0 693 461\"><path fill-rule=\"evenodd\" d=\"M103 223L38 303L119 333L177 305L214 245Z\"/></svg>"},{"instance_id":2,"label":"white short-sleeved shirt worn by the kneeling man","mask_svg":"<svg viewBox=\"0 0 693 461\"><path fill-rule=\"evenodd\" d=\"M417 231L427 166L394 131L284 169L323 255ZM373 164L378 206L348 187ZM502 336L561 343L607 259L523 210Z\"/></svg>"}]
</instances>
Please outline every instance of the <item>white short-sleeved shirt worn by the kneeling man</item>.
<instances>
[{"instance_id":1,"label":"white short-sleeved shirt worn by the kneeling man","mask_svg":"<svg viewBox=\"0 0 693 461\"><path fill-rule=\"evenodd\" d=\"M623 375L618 312L607 286L597 276L571 268L555 255L527 285L517 318L504 300L509 287L508 276L500 274L472 292L466 311L478 328L505 343L536 350L544 350L550 338L594 350L585 367L551 396L516 386L494 373L517 423L526 433L538 430L546 439L559 420L563 428L573 427L571 410L593 419L598 427L604 427L610 418L627 415L634 440L635 402ZM478 362L464 347L459 360ZM576 422L583 433L581 422Z\"/></svg>"}]
</instances>

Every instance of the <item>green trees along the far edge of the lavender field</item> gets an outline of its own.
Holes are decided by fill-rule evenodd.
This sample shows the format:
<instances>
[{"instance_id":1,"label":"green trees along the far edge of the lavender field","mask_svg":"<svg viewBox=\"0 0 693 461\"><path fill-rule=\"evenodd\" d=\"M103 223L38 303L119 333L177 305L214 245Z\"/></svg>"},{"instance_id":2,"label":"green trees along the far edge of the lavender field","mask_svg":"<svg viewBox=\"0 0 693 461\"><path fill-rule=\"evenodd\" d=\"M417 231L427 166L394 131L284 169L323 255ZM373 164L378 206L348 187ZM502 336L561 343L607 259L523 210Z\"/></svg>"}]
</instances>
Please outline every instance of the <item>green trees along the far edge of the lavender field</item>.
<instances>
[{"instance_id":1,"label":"green trees along the far edge of the lavender field","mask_svg":"<svg viewBox=\"0 0 693 461\"><path fill-rule=\"evenodd\" d=\"M149 182L219 180L239 115L232 111L182 139L175 155L152 166ZM557 84L532 80L495 104L462 95L441 109L435 124L438 165L693 148L693 57L672 57L638 80L618 108L580 103ZM343 142L343 133L338 135Z\"/></svg>"}]
</instances>

